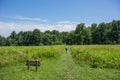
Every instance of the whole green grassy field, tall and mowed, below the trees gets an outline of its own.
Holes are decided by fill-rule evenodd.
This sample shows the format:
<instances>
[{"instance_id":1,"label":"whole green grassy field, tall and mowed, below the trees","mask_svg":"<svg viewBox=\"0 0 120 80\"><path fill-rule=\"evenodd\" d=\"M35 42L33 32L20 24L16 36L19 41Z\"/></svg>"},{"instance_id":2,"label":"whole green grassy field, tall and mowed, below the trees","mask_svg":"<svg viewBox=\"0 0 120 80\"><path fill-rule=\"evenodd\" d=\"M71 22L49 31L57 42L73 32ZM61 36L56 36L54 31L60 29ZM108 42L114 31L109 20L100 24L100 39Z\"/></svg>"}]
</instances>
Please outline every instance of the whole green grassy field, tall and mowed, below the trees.
<instances>
[{"instance_id":1,"label":"whole green grassy field, tall and mowed, below the trees","mask_svg":"<svg viewBox=\"0 0 120 80\"><path fill-rule=\"evenodd\" d=\"M119 57L119 45L0 47L0 80L120 80ZM38 71L27 59L41 61Z\"/></svg>"}]
</instances>

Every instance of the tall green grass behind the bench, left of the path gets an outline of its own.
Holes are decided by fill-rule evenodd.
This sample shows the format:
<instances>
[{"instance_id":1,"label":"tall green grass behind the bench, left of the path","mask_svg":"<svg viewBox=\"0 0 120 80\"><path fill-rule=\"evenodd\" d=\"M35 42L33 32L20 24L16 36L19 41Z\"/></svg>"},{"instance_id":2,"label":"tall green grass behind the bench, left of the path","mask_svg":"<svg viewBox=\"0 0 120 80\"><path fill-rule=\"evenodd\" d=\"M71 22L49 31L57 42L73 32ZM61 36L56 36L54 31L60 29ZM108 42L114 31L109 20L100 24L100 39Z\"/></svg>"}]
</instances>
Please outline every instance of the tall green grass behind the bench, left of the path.
<instances>
[{"instance_id":1,"label":"tall green grass behind the bench, left of the path","mask_svg":"<svg viewBox=\"0 0 120 80\"><path fill-rule=\"evenodd\" d=\"M27 59L56 58L61 46L11 46L0 47L0 67L25 62Z\"/></svg>"}]
</instances>

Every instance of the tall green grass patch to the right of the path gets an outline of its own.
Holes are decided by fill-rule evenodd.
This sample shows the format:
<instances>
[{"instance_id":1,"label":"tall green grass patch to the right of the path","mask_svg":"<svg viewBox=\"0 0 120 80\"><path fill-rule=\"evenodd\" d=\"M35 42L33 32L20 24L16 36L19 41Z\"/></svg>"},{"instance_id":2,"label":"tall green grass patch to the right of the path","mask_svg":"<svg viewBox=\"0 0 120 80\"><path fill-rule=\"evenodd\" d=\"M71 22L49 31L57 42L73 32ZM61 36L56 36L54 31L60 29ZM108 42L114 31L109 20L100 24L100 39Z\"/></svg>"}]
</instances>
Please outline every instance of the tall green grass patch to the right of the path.
<instances>
[{"instance_id":1,"label":"tall green grass patch to the right of the path","mask_svg":"<svg viewBox=\"0 0 120 80\"><path fill-rule=\"evenodd\" d=\"M120 45L72 46L71 55L80 64L93 68L120 69Z\"/></svg>"}]
</instances>

